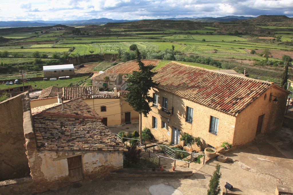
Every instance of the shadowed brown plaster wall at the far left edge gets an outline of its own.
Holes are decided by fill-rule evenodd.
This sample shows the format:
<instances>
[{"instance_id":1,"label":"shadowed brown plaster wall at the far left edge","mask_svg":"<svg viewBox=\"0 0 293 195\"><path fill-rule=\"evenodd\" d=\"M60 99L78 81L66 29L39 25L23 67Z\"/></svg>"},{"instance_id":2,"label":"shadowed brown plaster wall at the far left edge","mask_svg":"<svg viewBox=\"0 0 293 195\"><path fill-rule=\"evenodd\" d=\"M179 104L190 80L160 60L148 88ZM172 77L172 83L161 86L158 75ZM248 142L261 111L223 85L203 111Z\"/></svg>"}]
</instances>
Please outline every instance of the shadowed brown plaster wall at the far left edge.
<instances>
[{"instance_id":1,"label":"shadowed brown plaster wall at the far left edge","mask_svg":"<svg viewBox=\"0 0 293 195\"><path fill-rule=\"evenodd\" d=\"M23 99L28 92L0 103L0 180L29 176L23 136Z\"/></svg>"}]
</instances>

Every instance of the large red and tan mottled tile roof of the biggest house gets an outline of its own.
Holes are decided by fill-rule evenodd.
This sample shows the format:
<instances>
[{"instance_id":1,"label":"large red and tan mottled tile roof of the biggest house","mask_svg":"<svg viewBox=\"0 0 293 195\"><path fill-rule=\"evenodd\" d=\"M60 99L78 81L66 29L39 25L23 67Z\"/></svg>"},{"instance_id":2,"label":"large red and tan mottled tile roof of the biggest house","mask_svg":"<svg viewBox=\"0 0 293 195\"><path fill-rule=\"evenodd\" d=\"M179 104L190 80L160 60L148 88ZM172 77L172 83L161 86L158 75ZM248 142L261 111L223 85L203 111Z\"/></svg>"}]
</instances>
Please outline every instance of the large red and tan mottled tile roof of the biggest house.
<instances>
[{"instance_id":1,"label":"large red and tan mottled tile roof of the biggest house","mask_svg":"<svg viewBox=\"0 0 293 195\"><path fill-rule=\"evenodd\" d=\"M274 85L177 62L157 72L153 77L159 83L156 88L234 116Z\"/></svg>"}]
</instances>

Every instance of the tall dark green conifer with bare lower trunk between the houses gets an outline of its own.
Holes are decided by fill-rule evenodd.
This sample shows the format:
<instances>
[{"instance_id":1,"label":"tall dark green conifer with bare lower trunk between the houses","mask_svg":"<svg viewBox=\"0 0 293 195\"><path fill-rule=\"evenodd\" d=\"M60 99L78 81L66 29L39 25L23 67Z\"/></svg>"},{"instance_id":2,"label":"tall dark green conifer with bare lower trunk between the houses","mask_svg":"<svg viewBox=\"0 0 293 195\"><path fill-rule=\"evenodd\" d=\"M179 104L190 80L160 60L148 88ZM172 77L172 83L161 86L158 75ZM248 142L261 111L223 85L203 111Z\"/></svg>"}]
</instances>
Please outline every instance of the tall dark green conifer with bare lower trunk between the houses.
<instances>
[{"instance_id":1,"label":"tall dark green conifer with bare lower trunk between the houses","mask_svg":"<svg viewBox=\"0 0 293 195\"><path fill-rule=\"evenodd\" d=\"M139 65L139 71L132 71L129 79L127 79L127 90L126 100L134 111L139 113L139 139L142 141L142 114L147 117L151 111L150 102L153 98L149 96L149 90L151 87L158 85L152 79L156 72L151 70L155 67L154 65L145 66L140 60L140 52L136 50L136 61Z\"/></svg>"}]
</instances>

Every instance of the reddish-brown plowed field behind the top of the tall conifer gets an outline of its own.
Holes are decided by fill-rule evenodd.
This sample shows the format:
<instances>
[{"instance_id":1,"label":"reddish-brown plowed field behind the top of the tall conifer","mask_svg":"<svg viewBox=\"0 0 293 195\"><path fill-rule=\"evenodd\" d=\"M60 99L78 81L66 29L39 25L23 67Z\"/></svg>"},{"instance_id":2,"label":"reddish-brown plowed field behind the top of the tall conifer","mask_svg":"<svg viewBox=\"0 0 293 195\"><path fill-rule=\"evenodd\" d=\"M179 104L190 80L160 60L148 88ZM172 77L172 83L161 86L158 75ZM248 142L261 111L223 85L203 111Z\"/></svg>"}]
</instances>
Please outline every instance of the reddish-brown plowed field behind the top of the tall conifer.
<instances>
[{"instance_id":1,"label":"reddish-brown plowed field behind the top of the tall conifer","mask_svg":"<svg viewBox=\"0 0 293 195\"><path fill-rule=\"evenodd\" d=\"M159 60L142 60L142 63L144 65L157 65L159 63ZM132 74L132 71L138 71L138 63L136 60L128 61L128 62L122 62L119 63L108 70L106 70L106 73L120 73L120 74Z\"/></svg>"}]
</instances>

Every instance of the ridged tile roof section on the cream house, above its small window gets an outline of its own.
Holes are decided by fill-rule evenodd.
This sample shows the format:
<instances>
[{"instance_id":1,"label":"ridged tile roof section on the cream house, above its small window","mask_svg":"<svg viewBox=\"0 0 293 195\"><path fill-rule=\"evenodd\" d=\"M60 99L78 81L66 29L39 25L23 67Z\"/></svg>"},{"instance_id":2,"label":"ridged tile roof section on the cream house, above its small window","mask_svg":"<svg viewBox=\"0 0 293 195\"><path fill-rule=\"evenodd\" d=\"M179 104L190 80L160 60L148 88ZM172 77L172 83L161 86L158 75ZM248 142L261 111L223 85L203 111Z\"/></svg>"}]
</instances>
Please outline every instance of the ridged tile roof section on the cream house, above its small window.
<instances>
[{"instance_id":1,"label":"ridged tile roof section on the cream house, above its small window","mask_svg":"<svg viewBox=\"0 0 293 195\"><path fill-rule=\"evenodd\" d=\"M63 87L64 99L76 99L81 97L82 99L91 99L93 94L93 86L87 87Z\"/></svg>"}]
</instances>

